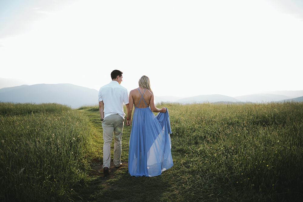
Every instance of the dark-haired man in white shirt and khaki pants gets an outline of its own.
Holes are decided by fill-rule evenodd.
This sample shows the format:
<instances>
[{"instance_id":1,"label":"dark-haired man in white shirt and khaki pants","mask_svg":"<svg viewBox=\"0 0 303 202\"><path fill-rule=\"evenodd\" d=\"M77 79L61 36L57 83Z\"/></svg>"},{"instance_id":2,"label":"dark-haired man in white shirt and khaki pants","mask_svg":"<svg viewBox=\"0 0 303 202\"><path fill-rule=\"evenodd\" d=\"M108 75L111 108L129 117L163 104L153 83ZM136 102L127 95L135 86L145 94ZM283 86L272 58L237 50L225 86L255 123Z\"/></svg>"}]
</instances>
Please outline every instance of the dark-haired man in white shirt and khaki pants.
<instances>
[{"instance_id":1,"label":"dark-haired man in white shirt and khaki pants","mask_svg":"<svg viewBox=\"0 0 303 202\"><path fill-rule=\"evenodd\" d=\"M99 90L99 112L103 129L103 174L109 175L111 161L111 144L114 136L114 164L119 168L121 163L121 137L124 126L125 113L123 103L128 110L128 92L121 86L122 72L114 70L112 81Z\"/></svg>"}]
</instances>

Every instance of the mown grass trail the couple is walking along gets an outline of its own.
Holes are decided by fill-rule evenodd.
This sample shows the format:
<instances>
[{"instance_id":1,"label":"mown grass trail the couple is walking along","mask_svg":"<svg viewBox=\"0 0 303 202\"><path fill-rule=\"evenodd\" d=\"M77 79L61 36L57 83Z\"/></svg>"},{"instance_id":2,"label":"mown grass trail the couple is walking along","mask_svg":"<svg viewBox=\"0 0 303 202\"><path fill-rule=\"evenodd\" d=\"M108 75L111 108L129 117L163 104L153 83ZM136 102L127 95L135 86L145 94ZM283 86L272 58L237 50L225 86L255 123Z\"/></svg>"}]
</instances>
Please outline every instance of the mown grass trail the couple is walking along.
<instances>
[{"instance_id":1,"label":"mown grass trail the couple is walking along","mask_svg":"<svg viewBox=\"0 0 303 202\"><path fill-rule=\"evenodd\" d=\"M93 154L92 166L94 162L102 162L103 138L102 124L98 106L79 108L88 116L93 131ZM128 161L128 142L131 126L123 128L122 134L122 162ZM113 154L113 143L111 153ZM111 159L112 161L113 159ZM100 164L100 169L102 168ZM101 170L101 172L103 172ZM166 172L166 171L165 171ZM167 190L169 179L163 176L157 177L132 177L128 174L127 166L119 169L113 168L109 177L103 174L90 177L87 187L79 194L81 200L78 201L159 201Z\"/></svg>"}]
</instances>

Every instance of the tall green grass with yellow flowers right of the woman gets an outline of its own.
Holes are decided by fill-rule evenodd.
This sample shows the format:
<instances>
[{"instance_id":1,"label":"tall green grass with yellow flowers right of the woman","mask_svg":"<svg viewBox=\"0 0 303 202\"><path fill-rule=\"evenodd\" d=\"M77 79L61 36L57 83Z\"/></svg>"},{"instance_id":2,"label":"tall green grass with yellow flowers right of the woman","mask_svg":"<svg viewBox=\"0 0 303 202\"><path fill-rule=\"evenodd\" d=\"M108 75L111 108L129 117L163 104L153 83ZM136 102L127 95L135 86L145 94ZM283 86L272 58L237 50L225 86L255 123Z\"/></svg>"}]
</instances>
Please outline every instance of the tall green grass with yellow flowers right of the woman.
<instances>
[{"instance_id":1,"label":"tall green grass with yellow flowers right of the woman","mask_svg":"<svg viewBox=\"0 0 303 202\"><path fill-rule=\"evenodd\" d=\"M303 199L303 103L166 107L182 199Z\"/></svg>"}]
</instances>

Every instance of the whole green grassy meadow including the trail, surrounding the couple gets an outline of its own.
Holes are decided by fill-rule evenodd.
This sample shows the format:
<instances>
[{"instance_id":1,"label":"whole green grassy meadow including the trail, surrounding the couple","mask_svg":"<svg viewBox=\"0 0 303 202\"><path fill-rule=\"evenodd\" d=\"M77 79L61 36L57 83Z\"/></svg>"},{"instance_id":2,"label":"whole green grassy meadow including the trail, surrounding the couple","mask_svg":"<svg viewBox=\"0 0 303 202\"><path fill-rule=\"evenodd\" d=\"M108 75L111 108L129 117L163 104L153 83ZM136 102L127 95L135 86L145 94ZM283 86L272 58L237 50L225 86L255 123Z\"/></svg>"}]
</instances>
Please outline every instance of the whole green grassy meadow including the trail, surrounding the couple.
<instances>
[{"instance_id":1,"label":"whole green grassy meadow including the trail, surrounding the couple","mask_svg":"<svg viewBox=\"0 0 303 202\"><path fill-rule=\"evenodd\" d=\"M302 201L302 102L157 107L168 108L174 166L105 179L88 176L102 163L98 106L0 103L0 201Z\"/></svg>"}]
</instances>

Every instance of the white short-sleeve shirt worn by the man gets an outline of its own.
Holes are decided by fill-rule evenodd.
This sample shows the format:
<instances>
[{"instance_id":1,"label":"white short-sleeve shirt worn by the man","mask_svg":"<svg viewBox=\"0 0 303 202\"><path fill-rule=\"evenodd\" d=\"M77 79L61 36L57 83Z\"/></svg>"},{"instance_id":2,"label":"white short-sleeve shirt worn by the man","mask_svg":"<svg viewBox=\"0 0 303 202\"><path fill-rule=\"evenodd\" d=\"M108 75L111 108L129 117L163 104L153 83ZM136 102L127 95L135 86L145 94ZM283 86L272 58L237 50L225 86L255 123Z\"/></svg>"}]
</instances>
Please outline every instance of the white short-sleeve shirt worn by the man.
<instances>
[{"instance_id":1,"label":"white short-sleeve shirt worn by the man","mask_svg":"<svg viewBox=\"0 0 303 202\"><path fill-rule=\"evenodd\" d=\"M104 103L104 118L112 114L119 114L124 119L123 103L129 103L128 92L118 81L111 81L102 86L99 90L98 100Z\"/></svg>"}]
</instances>

